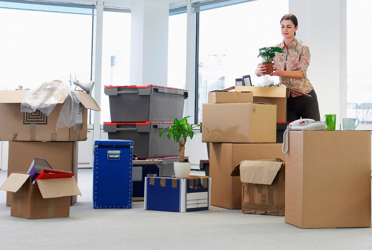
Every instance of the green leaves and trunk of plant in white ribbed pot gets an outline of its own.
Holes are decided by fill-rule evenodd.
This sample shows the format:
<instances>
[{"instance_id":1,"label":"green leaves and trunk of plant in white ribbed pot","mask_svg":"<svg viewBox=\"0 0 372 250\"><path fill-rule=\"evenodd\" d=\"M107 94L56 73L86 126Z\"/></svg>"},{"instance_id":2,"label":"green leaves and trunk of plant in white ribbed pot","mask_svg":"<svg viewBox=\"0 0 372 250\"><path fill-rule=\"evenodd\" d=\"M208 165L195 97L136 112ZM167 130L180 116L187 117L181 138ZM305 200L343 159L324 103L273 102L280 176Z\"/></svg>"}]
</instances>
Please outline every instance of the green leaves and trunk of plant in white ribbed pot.
<instances>
[{"instance_id":1,"label":"green leaves and trunk of plant in white ribbed pot","mask_svg":"<svg viewBox=\"0 0 372 250\"><path fill-rule=\"evenodd\" d=\"M194 131L192 131L192 129L196 127L205 128L205 126L201 124L192 126L192 124L187 123L187 118L189 117L190 116L186 116L182 118L182 120L180 121L177 118L174 118L173 124L167 128L161 129L159 133L159 137L161 138L161 136L163 135L164 129L169 129L169 131L167 132L168 139L170 139L173 135L174 141L178 142L179 144L178 162L185 162L185 144L186 144L187 137L190 137L190 139L192 139L192 137L194 136ZM208 128L205 128L205 129L209 133Z\"/></svg>"}]
</instances>

